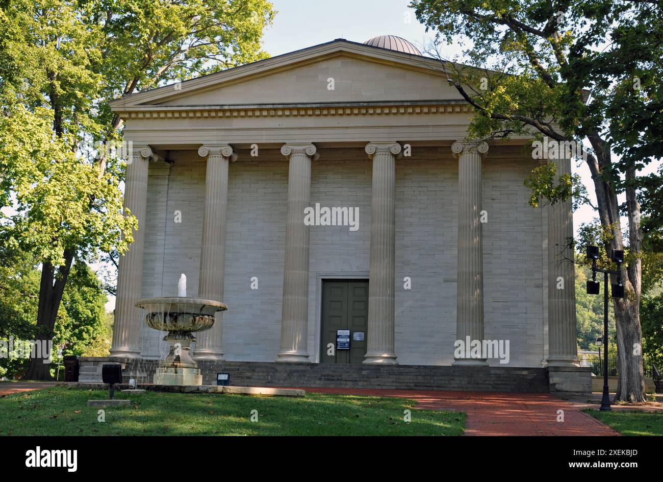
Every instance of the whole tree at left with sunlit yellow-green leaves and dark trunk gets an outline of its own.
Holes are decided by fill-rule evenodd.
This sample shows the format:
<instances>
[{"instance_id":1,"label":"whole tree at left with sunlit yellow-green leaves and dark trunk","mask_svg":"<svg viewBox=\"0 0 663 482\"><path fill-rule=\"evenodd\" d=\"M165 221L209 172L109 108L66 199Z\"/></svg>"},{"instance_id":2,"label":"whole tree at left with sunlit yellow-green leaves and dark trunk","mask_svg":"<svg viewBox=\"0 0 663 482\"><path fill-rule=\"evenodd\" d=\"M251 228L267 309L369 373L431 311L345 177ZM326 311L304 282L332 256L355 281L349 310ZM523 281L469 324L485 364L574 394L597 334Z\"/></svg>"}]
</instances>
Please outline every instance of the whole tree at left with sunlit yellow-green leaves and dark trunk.
<instances>
[{"instance_id":1,"label":"whole tree at left with sunlit yellow-green leaves and dark trunk","mask_svg":"<svg viewBox=\"0 0 663 482\"><path fill-rule=\"evenodd\" d=\"M112 98L267 56L265 0L0 4L0 237L42 266L36 339L52 339L75 258L122 254L124 167ZM92 146L92 147L90 147ZM48 379L40 362L28 378Z\"/></svg>"}]
</instances>

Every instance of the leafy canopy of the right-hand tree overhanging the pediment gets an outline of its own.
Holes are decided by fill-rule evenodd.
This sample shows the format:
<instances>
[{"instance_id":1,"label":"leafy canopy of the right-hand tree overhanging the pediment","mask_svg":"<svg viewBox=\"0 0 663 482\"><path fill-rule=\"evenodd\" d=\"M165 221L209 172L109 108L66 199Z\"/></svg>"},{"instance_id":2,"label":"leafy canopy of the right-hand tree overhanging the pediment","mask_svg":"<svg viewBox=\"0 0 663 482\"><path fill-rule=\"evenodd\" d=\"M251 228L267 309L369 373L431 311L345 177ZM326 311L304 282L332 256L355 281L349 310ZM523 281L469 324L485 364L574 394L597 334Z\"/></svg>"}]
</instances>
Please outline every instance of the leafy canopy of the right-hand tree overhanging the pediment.
<instances>
[{"instance_id":1,"label":"leafy canopy of the right-hand tree overhanging the pediment","mask_svg":"<svg viewBox=\"0 0 663 482\"><path fill-rule=\"evenodd\" d=\"M478 67L445 63L450 82L475 107L471 137L586 138L599 159L593 174L617 192L641 187L620 173L663 157L659 2L413 0L410 6L437 42L461 39L463 57ZM622 156L614 163L611 148ZM555 199L558 190L549 187Z\"/></svg>"}]
</instances>

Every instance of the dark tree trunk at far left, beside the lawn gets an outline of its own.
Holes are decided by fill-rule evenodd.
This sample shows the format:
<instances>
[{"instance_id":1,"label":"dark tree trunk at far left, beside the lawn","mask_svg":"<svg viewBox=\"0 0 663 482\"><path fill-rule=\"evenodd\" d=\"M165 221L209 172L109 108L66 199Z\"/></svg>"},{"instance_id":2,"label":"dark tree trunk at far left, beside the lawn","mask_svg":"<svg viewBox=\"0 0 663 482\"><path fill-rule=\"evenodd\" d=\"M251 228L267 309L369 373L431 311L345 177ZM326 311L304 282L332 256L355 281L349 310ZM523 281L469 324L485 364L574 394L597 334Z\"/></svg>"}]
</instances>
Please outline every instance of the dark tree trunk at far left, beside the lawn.
<instances>
[{"instance_id":1,"label":"dark tree trunk at far left, beside the lawn","mask_svg":"<svg viewBox=\"0 0 663 482\"><path fill-rule=\"evenodd\" d=\"M39 305L37 309L37 329L35 343L41 343L42 347L51 346L53 341L53 329L55 320L60 309L62 293L66 285L69 272L72 268L74 252L66 250L64 252L64 264L55 271L52 264L45 262L42 264L42 274L39 285ZM44 353L42 353L42 356ZM30 366L23 375L25 380L52 380L50 374L50 362L43 358L30 357Z\"/></svg>"}]
</instances>

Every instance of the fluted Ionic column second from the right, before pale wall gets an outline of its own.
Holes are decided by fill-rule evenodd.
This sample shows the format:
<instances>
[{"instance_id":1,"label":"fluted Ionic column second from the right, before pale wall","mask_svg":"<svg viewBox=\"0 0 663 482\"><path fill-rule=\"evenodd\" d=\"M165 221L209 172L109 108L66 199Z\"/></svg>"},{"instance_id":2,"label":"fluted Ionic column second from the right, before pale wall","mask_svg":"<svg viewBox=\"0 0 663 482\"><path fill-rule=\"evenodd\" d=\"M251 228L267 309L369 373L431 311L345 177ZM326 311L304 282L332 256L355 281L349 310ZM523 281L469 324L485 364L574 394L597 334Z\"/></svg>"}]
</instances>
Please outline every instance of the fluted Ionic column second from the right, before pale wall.
<instances>
[{"instance_id":1,"label":"fluted Ionic column second from the right, before pale wall","mask_svg":"<svg viewBox=\"0 0 663 482\"><path fill-rule=\"evenodd\" d=\"M488 144L452 145L458 158L458 273L456 339L483 342L483 230L481 229L481 158ZM466 347L465 353L469 353ZM483 358L456 358L453 364L485 365Z\"/></svg>"}]
</instances>

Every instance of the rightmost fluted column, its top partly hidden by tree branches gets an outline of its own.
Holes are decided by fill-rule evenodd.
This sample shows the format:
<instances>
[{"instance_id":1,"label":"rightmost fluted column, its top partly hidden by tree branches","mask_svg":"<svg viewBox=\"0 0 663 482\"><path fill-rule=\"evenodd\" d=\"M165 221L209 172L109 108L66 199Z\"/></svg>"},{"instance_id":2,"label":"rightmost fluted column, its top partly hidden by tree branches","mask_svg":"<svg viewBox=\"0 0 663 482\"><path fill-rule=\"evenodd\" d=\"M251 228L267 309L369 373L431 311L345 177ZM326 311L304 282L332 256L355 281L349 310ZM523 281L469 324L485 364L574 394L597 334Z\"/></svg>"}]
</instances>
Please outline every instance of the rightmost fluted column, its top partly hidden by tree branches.
<instances>
[{"instance_id":1,"label":"rightmost fluted column, its top partly hidden by tree branches","mask_svg":"<svg viewBox=\"0 0 663 482\"><path fill-rule=\"evenodd\" d=\"M557 166L555 181L571 174L570 159L550 160ZM577 366L575 268L572 201L548 206L548 366Z\"/></svg>"}]
</instances>

